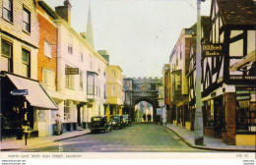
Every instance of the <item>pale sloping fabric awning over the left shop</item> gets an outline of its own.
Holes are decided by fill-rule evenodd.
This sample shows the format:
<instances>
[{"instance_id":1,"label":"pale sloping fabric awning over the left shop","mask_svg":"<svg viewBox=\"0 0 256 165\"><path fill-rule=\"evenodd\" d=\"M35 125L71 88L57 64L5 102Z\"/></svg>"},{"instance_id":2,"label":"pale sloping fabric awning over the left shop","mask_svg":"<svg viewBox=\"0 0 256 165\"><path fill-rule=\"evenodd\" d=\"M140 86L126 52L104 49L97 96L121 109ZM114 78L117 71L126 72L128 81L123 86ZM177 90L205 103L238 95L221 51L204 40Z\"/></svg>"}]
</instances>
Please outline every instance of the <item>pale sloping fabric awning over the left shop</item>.
<instances>
[{"instance_id":1,"label":"pale sloping fabric awning over the left shop","mask_svg":"<svg viewBox=\"0 0 256 165\"><path fill-rule=\"evenodd\" d=\"M32 106L51 110L58 109L57 105L47 94L42 85L37 81L32 81L10 74L7 74L7 77L12 83L14 83L17 89L28 89L26 99L31 103Z\"/></svg>"}]
</instances>

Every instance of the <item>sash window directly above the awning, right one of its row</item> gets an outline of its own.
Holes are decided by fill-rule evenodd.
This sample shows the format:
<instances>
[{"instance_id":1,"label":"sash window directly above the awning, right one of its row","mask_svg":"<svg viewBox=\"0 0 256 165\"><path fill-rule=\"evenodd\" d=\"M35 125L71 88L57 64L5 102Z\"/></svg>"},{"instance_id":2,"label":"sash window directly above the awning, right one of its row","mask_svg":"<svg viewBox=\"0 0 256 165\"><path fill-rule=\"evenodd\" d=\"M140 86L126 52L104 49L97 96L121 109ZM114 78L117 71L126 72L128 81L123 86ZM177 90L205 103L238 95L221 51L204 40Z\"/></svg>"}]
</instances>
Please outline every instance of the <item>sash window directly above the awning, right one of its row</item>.
<instances>
[{"instance_id":1,"label":"sash window directly above the awning, right one of its row","mask_svg":"<svg viewBox=\"0 0 256 165\"><path fill-rule=\"evenodd\" d=\"M31 78L31 52L23 49L22 53L22 71L23 76L27 78Z\"/></svg>"}]
</instances>

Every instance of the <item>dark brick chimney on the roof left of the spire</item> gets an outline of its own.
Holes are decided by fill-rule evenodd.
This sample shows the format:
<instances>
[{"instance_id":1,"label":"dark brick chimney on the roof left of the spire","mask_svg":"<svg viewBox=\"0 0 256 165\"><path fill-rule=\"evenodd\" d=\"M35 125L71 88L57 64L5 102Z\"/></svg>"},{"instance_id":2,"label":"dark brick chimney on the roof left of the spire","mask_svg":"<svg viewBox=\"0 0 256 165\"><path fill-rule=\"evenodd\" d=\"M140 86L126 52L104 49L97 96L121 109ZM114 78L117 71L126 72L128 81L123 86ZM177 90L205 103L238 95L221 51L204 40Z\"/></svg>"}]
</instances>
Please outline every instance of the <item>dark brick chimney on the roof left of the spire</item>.
<instances>
[{"instance_id":1,"label":"dark brick chimney on the roof left of the spire","mask_svg":"<svg viewBox=\"0 0 256 165\"><path fill-rule=\"evenodd\" d=\"M71 4L69 0L64 1L64 6L55 7L56 13L64 20L71 25Z\"/></svg>"}]
</instances>

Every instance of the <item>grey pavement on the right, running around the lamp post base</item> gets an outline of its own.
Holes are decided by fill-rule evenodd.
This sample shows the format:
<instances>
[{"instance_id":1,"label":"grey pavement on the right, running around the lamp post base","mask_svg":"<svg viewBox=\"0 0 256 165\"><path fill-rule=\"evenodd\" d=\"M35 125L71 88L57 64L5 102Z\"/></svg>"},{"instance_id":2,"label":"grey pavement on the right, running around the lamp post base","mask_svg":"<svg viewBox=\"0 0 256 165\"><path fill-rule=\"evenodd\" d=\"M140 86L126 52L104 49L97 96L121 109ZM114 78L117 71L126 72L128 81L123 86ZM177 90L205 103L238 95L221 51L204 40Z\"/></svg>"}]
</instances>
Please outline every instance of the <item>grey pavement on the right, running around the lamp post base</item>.
<instances>
[{"instance_id":1,"label":"grey pavement on the right, running around the lamp post base","mask_svg":"<svg viewBox=\"0 0 256 165\"><path fill-rule=\"evenodd\" d=\"M207 149L207 150L218 150L218 151L241 151L241 152L255 152L256 146L254 145L228 145L224 143L222 138L210 138L204 136L204 145L195 144L195 134L193 131L188 131L184 127L175 126L172 124L167 124L163 127L169 129L179 138L185 141L189 146L198 149Z\"/></svg>"}]
</instances>

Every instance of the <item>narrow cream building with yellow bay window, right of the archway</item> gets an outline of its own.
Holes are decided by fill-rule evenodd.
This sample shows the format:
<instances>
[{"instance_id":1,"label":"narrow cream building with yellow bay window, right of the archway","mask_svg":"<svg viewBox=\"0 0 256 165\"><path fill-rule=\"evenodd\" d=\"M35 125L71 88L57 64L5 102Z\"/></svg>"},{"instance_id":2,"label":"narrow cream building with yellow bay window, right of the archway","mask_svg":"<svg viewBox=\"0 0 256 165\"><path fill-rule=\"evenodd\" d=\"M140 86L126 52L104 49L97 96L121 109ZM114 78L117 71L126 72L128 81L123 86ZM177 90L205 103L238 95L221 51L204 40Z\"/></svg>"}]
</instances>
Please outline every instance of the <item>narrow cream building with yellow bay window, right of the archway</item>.
<instances>
[{"instance_id":1,"label":"narrow cream building with yellow bay window, right of the archway","mask_svg":"<svg viewBox=\"0 0 256 165\"><path fill-rule=\"evenodd\" d=\"M187 119L188 110L188 83L189 48L193 30L183 28L181 34L169 56L170 66L170 103L172 123L177 126L190 127Z\"/></svg>"}]
</instances>

